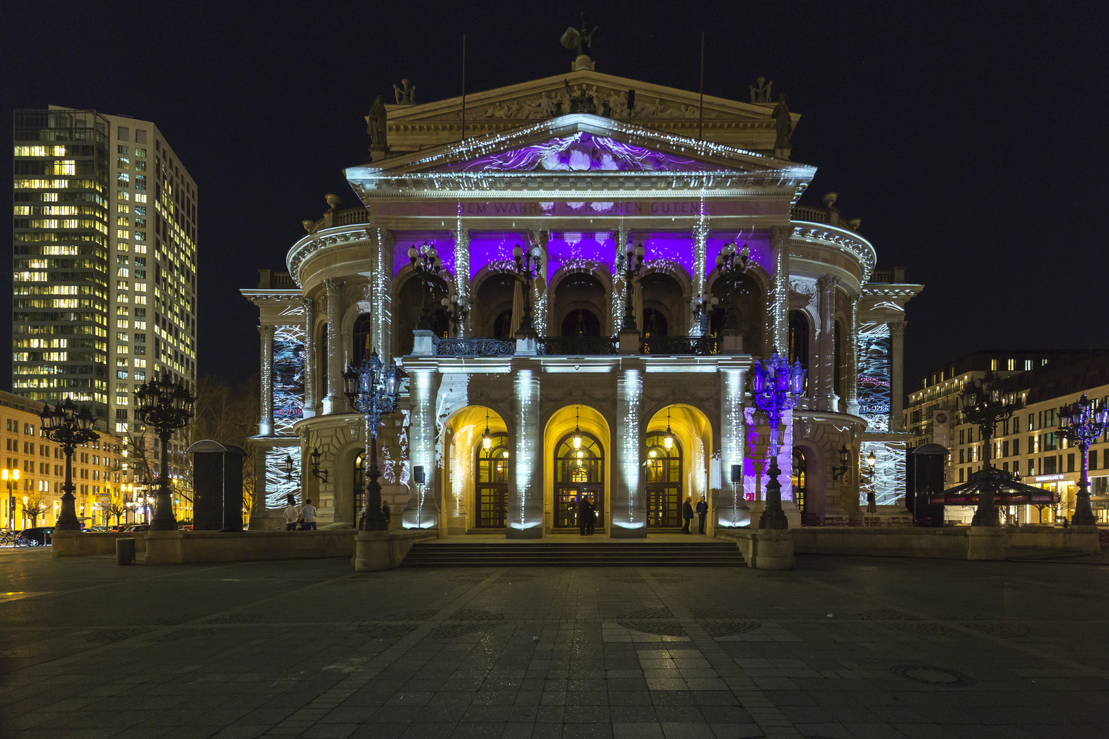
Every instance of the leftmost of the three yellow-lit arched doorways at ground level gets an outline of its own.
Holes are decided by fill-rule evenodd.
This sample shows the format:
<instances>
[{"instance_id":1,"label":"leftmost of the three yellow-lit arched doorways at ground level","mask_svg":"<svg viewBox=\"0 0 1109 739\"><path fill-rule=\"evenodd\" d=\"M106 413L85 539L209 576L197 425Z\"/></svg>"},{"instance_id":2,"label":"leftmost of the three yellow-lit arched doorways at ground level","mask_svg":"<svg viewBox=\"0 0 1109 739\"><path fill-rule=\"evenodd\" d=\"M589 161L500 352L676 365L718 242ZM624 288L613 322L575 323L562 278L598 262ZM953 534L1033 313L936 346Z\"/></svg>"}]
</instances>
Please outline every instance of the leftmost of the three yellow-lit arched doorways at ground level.
<instances>
[{"instance_id":1,"label":"leftmost of the three yellow-lit arched doorways at ground level","mask_svg":"<svg viewBox=\"0 0 1109 739\"><path fill-rule=\"evenodd\" d=\"M439 511L452 534L505 531L511 482L511 433L485 406L455 411L442 430Z\"/></svg>"}]
</instances>

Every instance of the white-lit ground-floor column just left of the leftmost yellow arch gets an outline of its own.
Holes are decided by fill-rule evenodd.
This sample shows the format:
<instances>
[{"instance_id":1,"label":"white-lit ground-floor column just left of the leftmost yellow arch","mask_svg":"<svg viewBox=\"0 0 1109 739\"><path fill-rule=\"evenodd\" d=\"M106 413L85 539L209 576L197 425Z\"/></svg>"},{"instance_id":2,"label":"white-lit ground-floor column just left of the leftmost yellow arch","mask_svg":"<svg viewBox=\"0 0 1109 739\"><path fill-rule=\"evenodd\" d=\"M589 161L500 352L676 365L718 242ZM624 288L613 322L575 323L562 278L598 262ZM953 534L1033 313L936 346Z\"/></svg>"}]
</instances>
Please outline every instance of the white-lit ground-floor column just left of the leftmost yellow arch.
<instances>
[{"instance_id":1,"label":"white-lit ground-floor column just left of the leftmost yellow arch","mask_svg":"<svg viewBox=\"0 0 1109 739\"><path fill-rule=\"evenodd\" d=\"M407 528L434 528L439 525L437 497L438 475L435 461L436 429L435 398L438 394L438 373L433 369L413 369L408 373L408 402L411 408L411 425L408 428L408 460L411 466L411 491L405 509L404 525ZM384 435L384 434L379 434ZM381 459L381 440L378 439L378 460ZM423 495L416 484L416 468L424 468Z\"/></svg>"}]
</instances>

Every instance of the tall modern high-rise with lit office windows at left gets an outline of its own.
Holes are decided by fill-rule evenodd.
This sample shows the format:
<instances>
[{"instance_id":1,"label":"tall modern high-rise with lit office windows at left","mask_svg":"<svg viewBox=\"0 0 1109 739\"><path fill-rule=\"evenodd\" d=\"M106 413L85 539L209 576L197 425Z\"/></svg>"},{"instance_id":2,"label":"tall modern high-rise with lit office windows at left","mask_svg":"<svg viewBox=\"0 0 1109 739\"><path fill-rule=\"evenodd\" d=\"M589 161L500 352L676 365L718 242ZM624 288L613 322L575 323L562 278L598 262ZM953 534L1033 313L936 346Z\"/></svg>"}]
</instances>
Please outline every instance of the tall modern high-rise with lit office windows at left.
<instances>
[{"instance_id":1,"label":"tall modern high-rise with lit office windows at left","mask_svg":"<svg viewBox=\"0 0 1109 739\"><path fill-rule=\"evenodd\" d=\"M196 184L154 123L58 106L16 111L14 172L12 389L135 432L139 384L196 379Z\"/></svg>"}]
</instances>

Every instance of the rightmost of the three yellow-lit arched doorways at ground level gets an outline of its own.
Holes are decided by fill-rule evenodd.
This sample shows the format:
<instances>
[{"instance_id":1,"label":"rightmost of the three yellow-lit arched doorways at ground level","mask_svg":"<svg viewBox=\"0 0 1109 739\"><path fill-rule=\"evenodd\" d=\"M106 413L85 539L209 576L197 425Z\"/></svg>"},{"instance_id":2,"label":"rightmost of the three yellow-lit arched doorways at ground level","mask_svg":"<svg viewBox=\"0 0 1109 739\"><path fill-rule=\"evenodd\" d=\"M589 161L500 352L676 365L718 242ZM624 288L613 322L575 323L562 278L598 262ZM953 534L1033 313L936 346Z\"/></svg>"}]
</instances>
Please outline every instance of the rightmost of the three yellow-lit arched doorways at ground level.
<instances>
[{"instance_id":1,"label":"rightmost of the three yellow-lit arched doorways at ground level","mask_svg":"<svg viewBox=\"0 0 1109 739\"><path fill-rule=\"evenodd\" d=\"M649 531L678 531L686 499L694 509L702 497L709 501L712 449L712 423L700 409L675 403L651 417L643 437Z\"/></svg>"}]
</instances>

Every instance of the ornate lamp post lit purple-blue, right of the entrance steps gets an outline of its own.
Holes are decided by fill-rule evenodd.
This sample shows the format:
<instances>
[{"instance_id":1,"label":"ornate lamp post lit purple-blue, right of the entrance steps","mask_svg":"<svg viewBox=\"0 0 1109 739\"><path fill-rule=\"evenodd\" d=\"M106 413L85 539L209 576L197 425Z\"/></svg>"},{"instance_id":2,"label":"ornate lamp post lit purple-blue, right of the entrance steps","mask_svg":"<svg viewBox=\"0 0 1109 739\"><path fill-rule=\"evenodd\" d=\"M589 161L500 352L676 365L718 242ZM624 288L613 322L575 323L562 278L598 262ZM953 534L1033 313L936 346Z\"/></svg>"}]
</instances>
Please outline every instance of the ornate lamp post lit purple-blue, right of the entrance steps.
<instances>
[{"instance_id":1,"label":"ornate lamp post lit purple-blue, right of the entrance steps","mask_svg":"<svg viewBox=\"0 0 1109 739\"><path fill-rule=\"evenodd\" d=\"M782 414L795 408L805 388L805 368L797 361L792 367L775 351L763 361L754 360L751 394L755 407L766 417L770 425L770 482L766 483L766 509L759 519L760 528L788 528L790 522L782 510L782 483L777 481L777 427Z\"/></svg>"}]
</instances>

